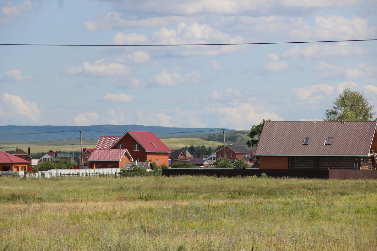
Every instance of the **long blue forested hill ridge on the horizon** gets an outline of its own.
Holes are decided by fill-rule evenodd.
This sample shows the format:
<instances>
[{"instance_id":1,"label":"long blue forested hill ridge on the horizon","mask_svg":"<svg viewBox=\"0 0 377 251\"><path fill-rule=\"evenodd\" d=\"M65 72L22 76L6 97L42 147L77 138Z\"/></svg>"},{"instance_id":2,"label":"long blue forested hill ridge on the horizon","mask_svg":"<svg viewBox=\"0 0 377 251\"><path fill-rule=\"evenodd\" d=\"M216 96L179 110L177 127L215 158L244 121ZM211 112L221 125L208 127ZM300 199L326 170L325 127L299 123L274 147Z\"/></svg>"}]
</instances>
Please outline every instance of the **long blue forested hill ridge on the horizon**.
<instances>
[{"instance_id":1,"label":"long blue forested hill ridge on the horizon","mask_svg":"<svg viewBox=\"0 0 377 251\"><path fill-rule=\"evenodd\" d=\"M148 131L153 132L157 137L176 136L181 134L208 134L210 130L222 128L181 128L164 126L143 126L143 125L91 125L91 126L0 126L0 140L66 140L80 138L79 131L82 130L82 137L98 139L100 136L120 136L126 131ZM64 131L64 132L63 132ZM45 133L49 132L49 133ZM13 134L13 135L12 135Z\"/></svg>"}]
</instances>

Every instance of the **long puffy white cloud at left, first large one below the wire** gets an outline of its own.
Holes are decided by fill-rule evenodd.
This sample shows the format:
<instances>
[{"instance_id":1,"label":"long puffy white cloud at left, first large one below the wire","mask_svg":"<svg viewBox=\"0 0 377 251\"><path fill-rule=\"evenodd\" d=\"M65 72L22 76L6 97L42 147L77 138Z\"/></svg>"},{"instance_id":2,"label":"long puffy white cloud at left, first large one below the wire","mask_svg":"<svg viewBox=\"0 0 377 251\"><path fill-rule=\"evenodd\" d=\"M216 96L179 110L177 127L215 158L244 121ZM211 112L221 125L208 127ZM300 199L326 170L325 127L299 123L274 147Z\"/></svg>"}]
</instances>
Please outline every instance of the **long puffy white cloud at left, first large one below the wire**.
<instances>
[{"instance_id":1,"label":"long puffy white cloud at left, first large one below the wire","mask_svg":"<svg viewBox=\"0 0 377 251\"><path fill-rule=\"evenodd\" d=\"M94 64L84 62L79 67L70 66L61 70L61 73L64 75L83 74L90 77L114 77L127 76L130 73L130 69L117 62L106 63L103 58L95 61Z\"/></svg>"}]
</instances>

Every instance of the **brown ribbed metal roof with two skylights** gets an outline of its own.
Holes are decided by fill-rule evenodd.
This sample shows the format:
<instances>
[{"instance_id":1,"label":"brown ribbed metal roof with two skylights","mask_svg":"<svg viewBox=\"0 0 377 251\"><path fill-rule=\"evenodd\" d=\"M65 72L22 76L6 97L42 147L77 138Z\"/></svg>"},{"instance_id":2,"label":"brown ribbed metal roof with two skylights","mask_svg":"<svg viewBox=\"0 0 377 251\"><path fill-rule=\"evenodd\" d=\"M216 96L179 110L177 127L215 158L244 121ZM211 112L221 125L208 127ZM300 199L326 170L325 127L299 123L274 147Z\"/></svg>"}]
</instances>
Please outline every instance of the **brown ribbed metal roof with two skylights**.
<instances>
[{"instance_id":1,"label":"brown ribbed metal roof with two skylights","mask_svg":"<svg viewBox=\"0 0 377 251\"><path fill-rule=\"evenodd\" d=\"M265 122L256 155L369 156L376 121ZM325 145L332 137L331 145ZM310 138L303 145L304 138Z\"/></svg>"}]
</instances>

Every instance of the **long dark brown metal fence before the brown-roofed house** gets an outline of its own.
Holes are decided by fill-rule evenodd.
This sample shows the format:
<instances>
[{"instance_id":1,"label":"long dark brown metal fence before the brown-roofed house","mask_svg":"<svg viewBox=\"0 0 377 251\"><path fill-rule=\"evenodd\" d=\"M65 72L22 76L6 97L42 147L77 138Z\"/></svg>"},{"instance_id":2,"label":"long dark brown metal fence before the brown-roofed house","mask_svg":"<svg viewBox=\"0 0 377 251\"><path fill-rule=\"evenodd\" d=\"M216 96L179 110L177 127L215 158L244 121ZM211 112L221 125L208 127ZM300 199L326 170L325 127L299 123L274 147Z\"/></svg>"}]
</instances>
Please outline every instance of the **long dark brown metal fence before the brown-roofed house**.
<instances>
[{"instance_id":1,"label":"long dark brown metal fence before the brown-roofed house","mask_svg":"<svg viewBox=\"0 0 377 251\"><path fill-rule=\"evenodd\" d=\"M169 168L162 169L162 175L206 175L217 177L268 175L273 178L308 178L308 179L377 179L376 170L344 170L344 169L220 169L220 168Z\"/></svg>"}]
</instances>

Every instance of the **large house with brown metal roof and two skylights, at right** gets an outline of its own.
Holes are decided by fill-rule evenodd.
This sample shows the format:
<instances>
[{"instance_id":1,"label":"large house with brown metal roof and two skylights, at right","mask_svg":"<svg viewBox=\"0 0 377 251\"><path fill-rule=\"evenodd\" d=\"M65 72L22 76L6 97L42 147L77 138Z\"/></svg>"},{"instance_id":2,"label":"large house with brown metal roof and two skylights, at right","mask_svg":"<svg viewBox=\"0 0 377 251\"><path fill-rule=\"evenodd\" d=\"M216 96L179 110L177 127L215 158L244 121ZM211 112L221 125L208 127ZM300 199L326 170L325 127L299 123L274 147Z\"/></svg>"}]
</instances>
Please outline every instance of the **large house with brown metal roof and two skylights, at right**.
<instances>
[{"instance_id":1,"label":"large house with brown metal roof and two skylights, at right","mask_svg":"<svg viewBox=\"0 0 377 251\"><path fill-rule=\"evenodd\" d=\"M375 170L376 121L266 121L259 169Z\"/></svg>"}]
</instances>

